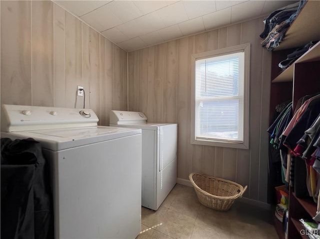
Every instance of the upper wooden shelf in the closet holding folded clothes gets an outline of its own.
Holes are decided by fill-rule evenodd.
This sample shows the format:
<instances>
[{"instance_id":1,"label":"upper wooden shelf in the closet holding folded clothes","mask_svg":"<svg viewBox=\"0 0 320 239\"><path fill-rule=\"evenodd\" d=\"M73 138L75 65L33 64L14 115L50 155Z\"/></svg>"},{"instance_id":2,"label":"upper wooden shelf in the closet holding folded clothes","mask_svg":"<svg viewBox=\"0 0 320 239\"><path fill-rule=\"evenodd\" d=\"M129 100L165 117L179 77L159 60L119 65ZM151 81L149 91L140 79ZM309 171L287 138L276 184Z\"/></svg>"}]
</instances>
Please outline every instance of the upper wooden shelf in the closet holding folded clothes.
<instances>
[{"instance_id":1,"label":"upper wooden shelf in the closet holding folded clothes","mask_svg":"<svg viewBox=\"0 0 320 239\"><path fill-rule=\"evenodd\" d=\"M303 46L310 40L320 40L319 12L320 1L308 0L286 31L283 41L273 51ZM317 27L314 28L314 25Z\"/></svg>"}]
</instances>

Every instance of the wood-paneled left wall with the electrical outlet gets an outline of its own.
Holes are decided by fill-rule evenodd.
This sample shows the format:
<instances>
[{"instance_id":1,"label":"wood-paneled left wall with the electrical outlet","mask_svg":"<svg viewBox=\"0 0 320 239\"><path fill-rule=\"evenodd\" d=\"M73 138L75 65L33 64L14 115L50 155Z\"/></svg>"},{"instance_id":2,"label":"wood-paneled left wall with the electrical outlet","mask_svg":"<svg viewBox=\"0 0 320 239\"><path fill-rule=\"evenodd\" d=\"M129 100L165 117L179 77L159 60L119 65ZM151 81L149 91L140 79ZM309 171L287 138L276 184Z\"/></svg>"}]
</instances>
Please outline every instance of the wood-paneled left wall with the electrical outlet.
<instances>
[{"instance_id":1,"label":"wood-paneled left wall with the electrical outlet","mask_svg":"<svg viewBox=\"0 0 320 239\"><path fill-rule=\"evenodd\" d=\"M1 103L127 110L126 52L52 1L0 1Z\"/></svg>"}]
</instances>

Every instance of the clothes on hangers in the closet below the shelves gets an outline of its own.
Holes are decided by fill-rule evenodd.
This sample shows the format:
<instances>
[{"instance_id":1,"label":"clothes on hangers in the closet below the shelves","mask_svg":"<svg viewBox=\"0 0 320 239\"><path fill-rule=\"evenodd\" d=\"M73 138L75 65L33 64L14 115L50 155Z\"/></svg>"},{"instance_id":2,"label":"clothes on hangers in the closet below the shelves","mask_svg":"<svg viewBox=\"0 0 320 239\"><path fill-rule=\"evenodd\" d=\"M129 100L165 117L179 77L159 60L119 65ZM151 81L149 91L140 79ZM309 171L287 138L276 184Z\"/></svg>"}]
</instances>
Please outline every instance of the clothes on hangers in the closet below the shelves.
<instances>
[{"instance_id":1,"label":"clothes on hangers in the closet below the shelves","mask_svg":"<svg viewBox=\"0 0 320 239\"><path fill-rule=\"evenodd\" d=\"M320 189L320 94L304 96L299 102L293 112L287 105L267 131L271 137L270 143L280 151L285 182L295 188L296 195L303 197L305 191L317 202ZM305 179L301 179L302 174L296 173L299 169L294 169L296 157L305 164ZM295 174L299 177L296 178ZM299 183L297 188L296 180ZM300 180L305 183L301 184Z\"/></svg>"}]
</instances>

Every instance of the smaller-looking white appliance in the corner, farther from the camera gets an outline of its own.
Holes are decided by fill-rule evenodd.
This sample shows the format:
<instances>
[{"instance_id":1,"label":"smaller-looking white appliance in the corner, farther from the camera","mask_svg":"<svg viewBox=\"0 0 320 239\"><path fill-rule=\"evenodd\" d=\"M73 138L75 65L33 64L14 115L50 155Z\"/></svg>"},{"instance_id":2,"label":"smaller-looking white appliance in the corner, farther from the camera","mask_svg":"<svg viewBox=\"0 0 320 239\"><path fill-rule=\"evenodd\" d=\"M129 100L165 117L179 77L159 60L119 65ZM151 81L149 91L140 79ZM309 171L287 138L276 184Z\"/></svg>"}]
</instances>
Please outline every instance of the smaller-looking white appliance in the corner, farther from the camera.
<instances>
[{"instance_id":1,"label":"smaller-looking white appliance in the corner, farther from the camera","mask_svg":"<svg viewBox=\"0 0 320 239\"><path fill-rule=\"evenodd\" d=\"M142 206L157 210L177 180L177 124L147 123L141 112L110 112L110 126L142 130Z\"/></svg>"}]
</instances>

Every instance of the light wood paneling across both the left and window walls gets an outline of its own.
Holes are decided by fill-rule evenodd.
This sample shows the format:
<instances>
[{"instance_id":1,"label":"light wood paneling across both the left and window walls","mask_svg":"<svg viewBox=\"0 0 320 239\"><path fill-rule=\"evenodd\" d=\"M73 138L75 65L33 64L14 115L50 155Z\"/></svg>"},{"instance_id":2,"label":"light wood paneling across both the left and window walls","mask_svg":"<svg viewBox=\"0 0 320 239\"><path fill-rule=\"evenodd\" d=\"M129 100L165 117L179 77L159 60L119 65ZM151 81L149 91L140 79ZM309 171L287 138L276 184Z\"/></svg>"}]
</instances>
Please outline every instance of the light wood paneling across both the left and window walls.
<instances>
[{"instance_id":1,"label":"light wood paneling across both the left and window walls","mask_svg":"<svg viewBox=\"0 0 320 239\"><path fill-rule=\"evenodd\" d=\"M126 61L125 51L52 1L0 1L1 103L82 107L75 95L81 85L100 125L112 109L178 123L179 179L190 172L230 179L248 185L245 197L266 202L271 56L259 43L262 20L132 51ZM249 150L191 145L191 54L247 42Z\"/></svg>"}]
</instances>

